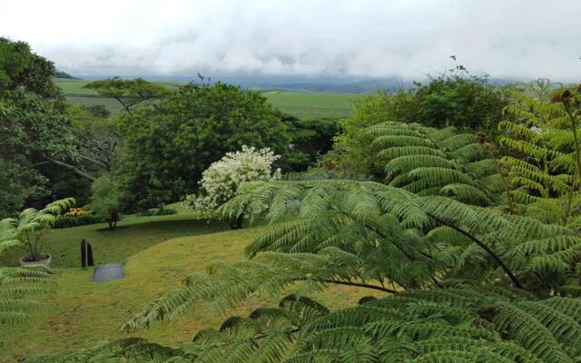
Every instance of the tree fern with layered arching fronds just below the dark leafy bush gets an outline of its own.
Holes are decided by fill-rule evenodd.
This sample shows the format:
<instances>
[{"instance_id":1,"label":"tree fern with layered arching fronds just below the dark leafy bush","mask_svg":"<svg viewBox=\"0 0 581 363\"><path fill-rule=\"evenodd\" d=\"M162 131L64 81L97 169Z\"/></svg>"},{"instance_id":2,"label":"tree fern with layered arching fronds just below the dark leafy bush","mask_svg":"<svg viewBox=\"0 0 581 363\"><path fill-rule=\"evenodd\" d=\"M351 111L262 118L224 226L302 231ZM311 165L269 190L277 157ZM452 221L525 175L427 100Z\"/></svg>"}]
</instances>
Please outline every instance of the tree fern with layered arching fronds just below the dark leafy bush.
<instances>
[{"instance_id":1,"label":"tree fern with layered arching fronds just below the dark leafy bush","mask_svg":"<svg viewBox=\"0 0 581 363\"><path fill-rule=\"evenodd\" d=\"M487 183L497 165L484 138L409 123L379 123L368 129L389 185L422 195L448 195L487 205L498 191ZM492 166L492 168L490 167Z\"/></svg>"}]
</instances>

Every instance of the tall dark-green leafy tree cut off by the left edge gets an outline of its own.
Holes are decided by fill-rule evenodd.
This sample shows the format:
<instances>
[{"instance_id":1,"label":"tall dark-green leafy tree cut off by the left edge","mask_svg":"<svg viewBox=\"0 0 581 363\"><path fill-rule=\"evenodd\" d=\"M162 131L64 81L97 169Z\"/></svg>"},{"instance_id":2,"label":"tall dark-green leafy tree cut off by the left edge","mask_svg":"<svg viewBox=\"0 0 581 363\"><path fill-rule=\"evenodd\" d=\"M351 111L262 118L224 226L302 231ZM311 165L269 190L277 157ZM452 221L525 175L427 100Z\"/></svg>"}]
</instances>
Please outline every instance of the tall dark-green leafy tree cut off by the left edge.
<instances>
[{"instance_id":1,"label":"tall dark-green leafy tree cut off by the left edge","mask_svg":"<svg viewBox=\"0 0 581 363\"><path fill-rule=\"evenodd\" d=\"M48 194L39 171L47 162L70 158L74 137L52 82L54 65L28 44L0 38L0 215Z\"/></svg>"}]
</instances>

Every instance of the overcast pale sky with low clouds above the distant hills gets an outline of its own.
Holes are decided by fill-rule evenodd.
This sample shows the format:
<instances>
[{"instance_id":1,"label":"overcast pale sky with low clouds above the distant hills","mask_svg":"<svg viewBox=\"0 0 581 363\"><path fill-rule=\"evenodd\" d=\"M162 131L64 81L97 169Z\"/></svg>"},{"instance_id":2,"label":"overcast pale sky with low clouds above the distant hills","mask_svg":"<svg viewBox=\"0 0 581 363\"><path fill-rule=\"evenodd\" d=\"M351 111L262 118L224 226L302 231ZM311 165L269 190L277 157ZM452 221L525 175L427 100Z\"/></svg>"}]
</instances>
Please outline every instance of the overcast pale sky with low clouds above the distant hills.
<instances>
[{"instance_id":1,"label":"overcast pale sky with low clouds above the distant hills","mask_svg":"<svg viewBox=\"0 0 581 363\"><path fill-rule=\"evenodd\" d=\"M73 74L581 81L581 0L0 0L0 36Z\"/></svg>"}]
</instances>

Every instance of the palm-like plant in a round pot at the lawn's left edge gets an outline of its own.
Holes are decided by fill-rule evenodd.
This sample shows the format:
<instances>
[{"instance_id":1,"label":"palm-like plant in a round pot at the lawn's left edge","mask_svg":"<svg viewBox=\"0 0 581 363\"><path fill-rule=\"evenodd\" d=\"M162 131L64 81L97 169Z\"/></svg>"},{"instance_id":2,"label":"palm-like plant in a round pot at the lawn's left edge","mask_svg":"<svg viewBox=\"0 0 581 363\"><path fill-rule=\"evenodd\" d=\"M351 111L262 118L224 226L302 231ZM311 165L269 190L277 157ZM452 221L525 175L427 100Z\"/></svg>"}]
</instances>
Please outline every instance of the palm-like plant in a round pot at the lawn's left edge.
<instances>
[{"instance_id":1,"label":"palm-like plant in a round pot at the lawn's left edge","mask_svg":"<svg viewBox=\"0 0 581 363\"><path fill-rule=\"evenodd\" d=\"M42 210L28 208L18 218L0 221L0 251L19 246L28 252L26 261L44 260L44 234L54 225L56 217L67 211L74 202L74 198L53 201Z\"/></svg>"}]
</instances>

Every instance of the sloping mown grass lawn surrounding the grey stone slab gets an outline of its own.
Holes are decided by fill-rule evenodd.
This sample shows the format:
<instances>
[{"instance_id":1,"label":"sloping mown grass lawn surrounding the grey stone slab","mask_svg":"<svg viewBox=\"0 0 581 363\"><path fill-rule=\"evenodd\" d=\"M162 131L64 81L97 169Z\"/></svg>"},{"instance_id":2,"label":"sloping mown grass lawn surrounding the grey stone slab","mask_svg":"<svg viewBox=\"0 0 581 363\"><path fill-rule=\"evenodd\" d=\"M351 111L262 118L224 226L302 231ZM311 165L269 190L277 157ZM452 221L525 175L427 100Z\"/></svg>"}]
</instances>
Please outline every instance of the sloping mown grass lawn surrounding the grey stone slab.
<instances>
[{"instance_id":1,"label":"sloping mown grass lawn surrounding the grey stone slab","mask_svg":"<svg viewBox=\"0 0 581 363\"><path fill-rule=\"evenodd\" d=\"M7 341L0 353L0 362L15 362L63 348L91 347L110 338L128 336L117 331L123 319L148 301L178 288L188 273L204 270L210 261L241 260L243 248L260 232L260 229L245 229L212 233L225 227L220 223L195 221L194 217L192 213L181 213L128 218L121 225L131 227L116 232L95 231L103 225L52 231L49 244L53 250L64 251L64 256L55 257L55 266L76 263L78 240L84 237L93 243L98 261L125 261L126 277L92 283L92 269L56 268L56 292L45 300L44 309L27 326L0 331L0 339ZM174 238L180 234L187 236ZM369 294L369 291L337 286L319 298L332 308L340 308ZM275 303L277 299L266 302ZM259 302L251 300L231 313L247 314ZM204 304L201 304L191 317L155 324L151 329L131 335L177 346L191 340L198 329L219 327L222 320L221 316L204 314Z\"/></svg>"}]
</instances>

